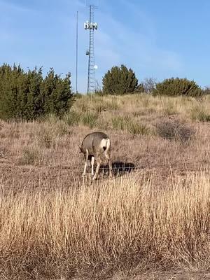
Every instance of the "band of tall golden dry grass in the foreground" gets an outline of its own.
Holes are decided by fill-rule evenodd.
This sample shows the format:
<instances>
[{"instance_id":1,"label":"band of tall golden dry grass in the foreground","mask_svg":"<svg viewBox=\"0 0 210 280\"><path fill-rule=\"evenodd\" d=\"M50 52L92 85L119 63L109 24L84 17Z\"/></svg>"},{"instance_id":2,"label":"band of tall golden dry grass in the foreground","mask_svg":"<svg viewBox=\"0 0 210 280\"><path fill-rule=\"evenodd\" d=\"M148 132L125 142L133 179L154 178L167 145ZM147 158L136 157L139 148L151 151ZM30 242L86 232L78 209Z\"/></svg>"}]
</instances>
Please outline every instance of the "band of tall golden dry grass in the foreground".
<instances>
[{"instance_id":1,"label":"band of tall golden dry grass in the foreground","mask_svg":"<svg viewBox=\"0 0 210 280\"><path fill-rule=\"evenodd\" d=\"M1 186L5 279L148 267L209 268L210 180L198 173L154 188L139 176L66 188ZM64 278L65 279L65 278Z\"/></svg>"}]
</instances>

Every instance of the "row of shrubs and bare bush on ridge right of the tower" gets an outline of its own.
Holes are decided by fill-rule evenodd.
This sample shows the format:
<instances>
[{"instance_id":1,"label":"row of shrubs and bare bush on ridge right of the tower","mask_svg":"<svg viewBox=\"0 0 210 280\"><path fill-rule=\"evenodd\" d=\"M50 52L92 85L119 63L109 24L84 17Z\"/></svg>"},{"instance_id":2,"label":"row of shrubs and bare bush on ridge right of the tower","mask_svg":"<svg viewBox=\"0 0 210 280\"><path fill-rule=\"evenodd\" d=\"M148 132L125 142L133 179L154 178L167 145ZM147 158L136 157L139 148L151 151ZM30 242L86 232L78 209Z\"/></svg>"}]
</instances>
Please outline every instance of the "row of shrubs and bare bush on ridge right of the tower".
<instances>
[{"instance_id":1,"label":"row of shrubs and bare bush on ridge right of the tower","mask_svg":"<svg viewBox=\"0 0 210 280\"><path fill-rule=\"evenodd\" d=\"M187 78L168 78L161 83L156 83L153 78L147 78L143 83L138 83L134 71L127 69L125 65L113 66L104 75L102 83L103 94L147 92L153 95L200 97L210 93L209 88L203 90L194 80Z\"/></svg>"}]
</instances>

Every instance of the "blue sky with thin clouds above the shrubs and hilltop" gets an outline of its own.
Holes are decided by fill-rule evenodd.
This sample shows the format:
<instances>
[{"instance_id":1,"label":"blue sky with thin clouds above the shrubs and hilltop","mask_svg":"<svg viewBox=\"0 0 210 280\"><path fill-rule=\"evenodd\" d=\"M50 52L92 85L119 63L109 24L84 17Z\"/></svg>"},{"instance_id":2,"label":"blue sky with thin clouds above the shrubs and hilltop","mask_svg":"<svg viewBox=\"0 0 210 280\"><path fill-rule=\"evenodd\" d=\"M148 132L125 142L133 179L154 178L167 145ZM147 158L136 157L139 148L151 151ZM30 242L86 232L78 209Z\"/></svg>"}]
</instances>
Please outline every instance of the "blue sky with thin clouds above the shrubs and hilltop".
<instances>
[{"instance_id":1,"label":"blue sky with thin clouds above the shrubs and hilltop","mask_svg":"<svg viewBox=\"0 0 210 280\"><path fill-rule=\"evenodd\" d=\"M87 0L88 2L88 0ZM209 0L94 0L96 78L113 65L144 78L172 76L210 85ZM0 0L1 64L47 73L71 72L75 90L76 11L78 10L78 90L87 84L88 19L85 0Z\"/></svg>"}]
</instances>

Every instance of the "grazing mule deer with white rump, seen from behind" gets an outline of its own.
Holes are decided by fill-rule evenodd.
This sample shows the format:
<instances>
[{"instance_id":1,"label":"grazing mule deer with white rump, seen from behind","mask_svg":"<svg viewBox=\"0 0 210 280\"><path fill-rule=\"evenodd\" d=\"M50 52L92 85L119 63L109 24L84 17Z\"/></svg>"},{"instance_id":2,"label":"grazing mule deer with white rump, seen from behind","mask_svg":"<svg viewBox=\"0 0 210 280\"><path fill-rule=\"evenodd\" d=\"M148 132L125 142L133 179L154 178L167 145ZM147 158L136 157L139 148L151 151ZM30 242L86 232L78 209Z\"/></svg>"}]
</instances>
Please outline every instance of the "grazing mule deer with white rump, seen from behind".
<instances>
[{"instance_id":1,"label":"grazing mule deer with white rump, seen from behind","mask_svg":"<svg viewBox=\"0 0 210 280\"><path fill-rule=\"evenodd\" d=\"M80 152L85 156L85 167L83 177L86 174L87 161L90 160L92 179L97 179L101 165L100 156L104 153L109 161L109 176L111 177L111 140L104 132L92 132L83 139ZM94 174L94 160L97 162L97 169Z\"/></svg>"}]
</instances>

